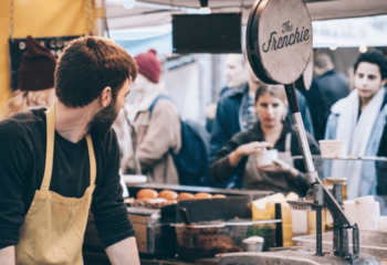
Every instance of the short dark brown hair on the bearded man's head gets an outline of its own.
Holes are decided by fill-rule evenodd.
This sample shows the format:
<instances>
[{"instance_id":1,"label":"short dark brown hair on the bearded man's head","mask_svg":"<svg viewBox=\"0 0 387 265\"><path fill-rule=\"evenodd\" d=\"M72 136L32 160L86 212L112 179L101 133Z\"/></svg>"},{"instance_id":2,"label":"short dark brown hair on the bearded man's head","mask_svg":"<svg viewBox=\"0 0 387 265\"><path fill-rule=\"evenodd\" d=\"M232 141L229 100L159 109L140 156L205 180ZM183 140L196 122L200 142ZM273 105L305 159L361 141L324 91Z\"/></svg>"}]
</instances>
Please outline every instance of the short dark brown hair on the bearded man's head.
<instances>
[{"instance_id":1,"label":"short dark brown hair on the bearded man's head","mask_svg":"<svg viewBox=\"0 0 387 265\"><path fill-rule=\"evenodd\" d=\"M137 64L123 47L104 38L80 38L59 59L56 97L67 107L84 107L106 86L112 87L115 98L125 81L135 81L136 76Z\"/></svg>"}]
</instances>

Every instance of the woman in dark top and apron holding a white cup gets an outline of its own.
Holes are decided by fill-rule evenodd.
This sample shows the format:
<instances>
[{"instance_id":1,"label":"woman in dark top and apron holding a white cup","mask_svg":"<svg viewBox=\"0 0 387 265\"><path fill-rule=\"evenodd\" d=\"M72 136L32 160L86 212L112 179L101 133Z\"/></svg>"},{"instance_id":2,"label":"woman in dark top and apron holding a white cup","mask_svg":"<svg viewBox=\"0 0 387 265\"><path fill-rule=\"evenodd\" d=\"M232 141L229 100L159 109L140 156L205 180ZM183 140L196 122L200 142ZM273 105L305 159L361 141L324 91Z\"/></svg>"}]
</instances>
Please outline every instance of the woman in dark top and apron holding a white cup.
<instances>
[{"instance_id":1,"label":"woman in dark top and apron holding a white cup","mask_svg":"<svg viewBox=\"0 0 387 265\"><path fill-rule=\"evenodd\" d=\"M255 94L255 113L259 121L252 129L239 132L218 152L210 167L211 179L222 182L238 178L242 187L254 190L271 190L304 195L307 183L302 160L293 163L292 156L300 156L295 128L286 116L287 100L282 85L261 85ZM313 155L320 149L310 134L307 140ZM279 159L272 166L258 167L255 153L268 148L279 151Z\"/></svg>"}]
</instances>

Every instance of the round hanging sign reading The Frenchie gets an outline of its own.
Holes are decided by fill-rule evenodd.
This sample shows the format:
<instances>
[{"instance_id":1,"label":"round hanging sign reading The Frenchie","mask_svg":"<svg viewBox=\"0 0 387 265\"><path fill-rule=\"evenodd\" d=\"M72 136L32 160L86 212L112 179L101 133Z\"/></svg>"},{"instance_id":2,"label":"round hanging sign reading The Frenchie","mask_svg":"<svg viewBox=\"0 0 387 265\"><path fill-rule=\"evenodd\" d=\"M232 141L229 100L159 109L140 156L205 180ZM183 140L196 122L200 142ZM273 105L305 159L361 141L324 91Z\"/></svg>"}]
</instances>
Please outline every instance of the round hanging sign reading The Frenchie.
<instances>
[{"instance_id":1,"label":"round hanging sign reading The Frenchie","mask_svg":"<svg viewBox=\"0 0 387 265\"><path fill-rule=\"evenodd\" d=\"M268 84L292 84L312 50L312 22L302 0L257 0L247 29L248 59Z\"/></svg>"}]
</instances>

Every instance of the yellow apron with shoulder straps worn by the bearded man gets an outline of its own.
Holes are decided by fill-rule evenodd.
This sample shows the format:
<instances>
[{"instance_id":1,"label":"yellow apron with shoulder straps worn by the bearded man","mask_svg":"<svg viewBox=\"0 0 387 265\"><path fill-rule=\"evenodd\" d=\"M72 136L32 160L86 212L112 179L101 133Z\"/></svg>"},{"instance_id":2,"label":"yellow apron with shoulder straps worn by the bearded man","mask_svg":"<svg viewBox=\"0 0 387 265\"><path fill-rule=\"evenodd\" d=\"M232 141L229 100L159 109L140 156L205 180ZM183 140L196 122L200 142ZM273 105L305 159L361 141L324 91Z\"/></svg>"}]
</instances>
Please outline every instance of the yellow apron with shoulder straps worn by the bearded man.
<instances>
[{"instance_id":1,"label":"yellow apron with shoulder straps worn by the bearded man","mask_svg":"<svg viewBox=\"0 0 387 265\"><path fill-rule=\"evenodd\" d=\"M82 244L96 176L92 138L86 135L90 187L80 199L64 198L49 190L54 153L55 105L46 110L46 124L44 177L20 229L20 243L15 246L17 264L83 264Z\"/></svg>"}]
</instances>

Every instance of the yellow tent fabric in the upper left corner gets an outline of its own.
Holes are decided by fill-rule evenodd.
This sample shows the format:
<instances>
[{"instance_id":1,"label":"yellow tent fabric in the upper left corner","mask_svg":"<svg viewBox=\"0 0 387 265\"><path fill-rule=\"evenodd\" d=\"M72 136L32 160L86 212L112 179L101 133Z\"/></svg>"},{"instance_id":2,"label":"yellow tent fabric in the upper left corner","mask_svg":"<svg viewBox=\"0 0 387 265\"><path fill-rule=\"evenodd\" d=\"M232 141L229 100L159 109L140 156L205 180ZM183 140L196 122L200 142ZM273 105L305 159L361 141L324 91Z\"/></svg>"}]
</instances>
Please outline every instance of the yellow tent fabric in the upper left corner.
<instances>
[{"instance_id":1,"label":"yellow tent fabric in the upper left corner","mask_svg":"<svg viewBox=\"0 0 387 265\"><path fill-rule=\"evenodd\" d=\"M87 31L85 0L13 0L13 38L61 36ZM90 3L93 3L90 0ZM0 114L9 99L8 39L11 0L0 1Z\"/></svg>"}]
</instances>

